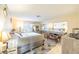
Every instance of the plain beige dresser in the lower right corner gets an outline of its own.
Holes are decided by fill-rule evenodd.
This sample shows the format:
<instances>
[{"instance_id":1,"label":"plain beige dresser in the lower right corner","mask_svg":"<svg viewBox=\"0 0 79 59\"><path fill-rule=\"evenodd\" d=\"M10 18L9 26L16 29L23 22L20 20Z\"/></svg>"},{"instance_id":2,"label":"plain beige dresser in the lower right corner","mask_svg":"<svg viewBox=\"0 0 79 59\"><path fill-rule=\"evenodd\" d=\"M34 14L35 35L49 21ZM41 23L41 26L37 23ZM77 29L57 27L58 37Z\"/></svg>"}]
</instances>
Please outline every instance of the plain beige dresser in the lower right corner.
<instances>
[{"instance_id":1,"label":"plain beige dresser in the lower right corner","mask_svg":"<svg viewBox=\"0 0 79 59\"><path fill-rule=\"evenodd\" d=\"M68 35L62 37L63 54L79 54L79 39L71 38Z\"/></svg>"}]
</instances>

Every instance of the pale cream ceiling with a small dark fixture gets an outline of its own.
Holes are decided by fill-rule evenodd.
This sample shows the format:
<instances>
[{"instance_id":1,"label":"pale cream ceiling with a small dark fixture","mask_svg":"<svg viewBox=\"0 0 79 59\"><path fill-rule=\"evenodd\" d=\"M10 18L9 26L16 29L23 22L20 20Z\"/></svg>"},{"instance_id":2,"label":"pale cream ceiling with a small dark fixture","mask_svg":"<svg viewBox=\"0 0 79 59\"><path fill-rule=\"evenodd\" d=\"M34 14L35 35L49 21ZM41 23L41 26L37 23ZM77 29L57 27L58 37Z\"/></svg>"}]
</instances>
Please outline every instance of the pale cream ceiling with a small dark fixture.
<instances>
[{"instance_id":1,"label":"pale cream ceiling with a small dark fixture","mask_svg":"<svg viewBox=\"0 0 79 59\"><path fill-rule=\"evenodd\" d=\"M26 21L51 20L55 16L79 11L79 5L77 4L11 4L7 6L10 16L16 16Z\"/></svg>"}]
</instances>

